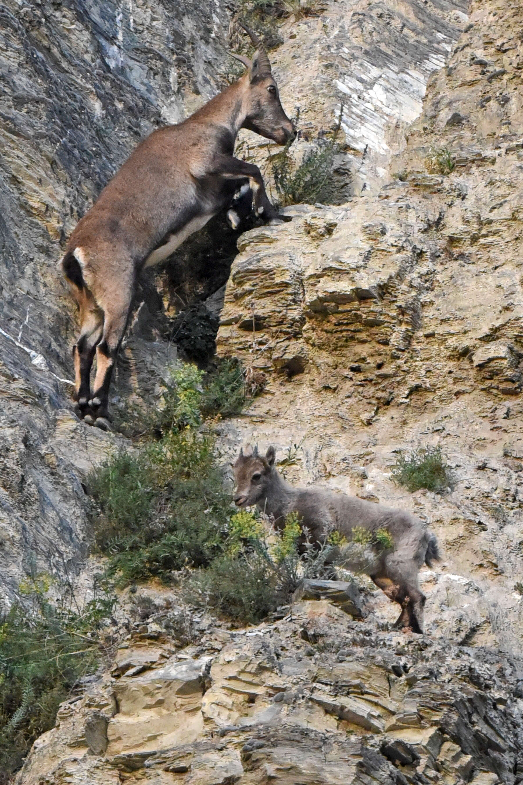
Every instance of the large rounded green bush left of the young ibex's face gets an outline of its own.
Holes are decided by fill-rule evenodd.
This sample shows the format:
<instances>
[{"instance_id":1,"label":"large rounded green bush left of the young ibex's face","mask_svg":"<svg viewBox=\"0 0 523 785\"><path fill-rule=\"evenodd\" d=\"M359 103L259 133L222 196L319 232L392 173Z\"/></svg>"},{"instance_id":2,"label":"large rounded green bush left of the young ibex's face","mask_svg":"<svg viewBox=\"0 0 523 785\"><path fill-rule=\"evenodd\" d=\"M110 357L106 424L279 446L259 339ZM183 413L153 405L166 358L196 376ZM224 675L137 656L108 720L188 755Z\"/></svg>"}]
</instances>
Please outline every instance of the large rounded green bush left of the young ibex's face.
<instances>
[{"instance_id":1,"label":"large rounded green bush left of the young ibex's face","mask_svg":"<svg viewBox=\"0 0 523 785\"><path fill-rule=\"evenodd\" d=\"M125 471L129 462L147 502L131 506L125 517L125 502L122 509L118 502L133 476ZM173 429L130 458L108 458L93 473L90 487L101 513L97 545L110 558L110 575L118 574L122 582L154 575L167 580L173 570L205 566L220 552L231 496L216 465L212 436L189 427ZM131 498L133 489L128 490Z\"/></svg>"}]
</instances>

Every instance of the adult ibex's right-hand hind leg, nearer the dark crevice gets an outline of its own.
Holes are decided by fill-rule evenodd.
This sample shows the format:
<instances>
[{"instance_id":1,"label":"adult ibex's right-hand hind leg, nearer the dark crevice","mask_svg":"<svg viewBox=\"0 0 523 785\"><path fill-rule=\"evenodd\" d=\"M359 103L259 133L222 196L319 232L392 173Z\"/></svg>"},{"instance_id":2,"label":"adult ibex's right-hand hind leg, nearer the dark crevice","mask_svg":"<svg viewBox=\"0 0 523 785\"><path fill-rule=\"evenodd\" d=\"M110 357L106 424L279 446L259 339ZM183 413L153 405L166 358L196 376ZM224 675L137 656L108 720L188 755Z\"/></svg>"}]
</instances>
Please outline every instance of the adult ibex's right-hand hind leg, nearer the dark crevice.
<instances>
[{"instance_id":1,"label":"adult ibex's right-hand hind leg, nearer the dark crevice","mask_svg":"<svg viewBox=\"0 0 523 785\"><path fill-rule=\"evenodd\" d=\"M85 422L108 430L109 425L109 387L118 349L125 333L129 310L131 307L132 290L125 295L113 298L111 305L104 309L104 333L96 345L96 377L93 385L93 397L89 400L89 419Z\"/></svg>"}]
</instances>

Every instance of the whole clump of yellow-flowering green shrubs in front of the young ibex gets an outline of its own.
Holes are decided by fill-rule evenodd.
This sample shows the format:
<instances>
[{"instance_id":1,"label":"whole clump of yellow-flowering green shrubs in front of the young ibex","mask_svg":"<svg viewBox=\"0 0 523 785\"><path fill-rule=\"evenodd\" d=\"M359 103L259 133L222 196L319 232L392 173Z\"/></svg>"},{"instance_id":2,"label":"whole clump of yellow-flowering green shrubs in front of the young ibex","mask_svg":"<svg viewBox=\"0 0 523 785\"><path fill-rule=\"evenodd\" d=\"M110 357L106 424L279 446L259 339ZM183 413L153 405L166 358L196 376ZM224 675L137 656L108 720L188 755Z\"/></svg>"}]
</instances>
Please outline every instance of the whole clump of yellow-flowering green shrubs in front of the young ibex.
<instances>
[{"instance_id":1,"label":"whole clump of yellow-flowering green shrubs in front of the young ibex","mask_svg":"<svg viewBox=\"0 0 523 785\"><path fill-rule=\"evenodd\" d=\"M150 436L107 458L89 485L96 543L118 585L176 582L184 570L195 605L253 623L288 603L300 580L332 570L340 542L336 534L319 548L308 542L296 515L277 537L259 516L232 514L212 417L245 402L241 377L234 361L204 386L194 365L176 368Z\"/></svg>"}]
</instances>

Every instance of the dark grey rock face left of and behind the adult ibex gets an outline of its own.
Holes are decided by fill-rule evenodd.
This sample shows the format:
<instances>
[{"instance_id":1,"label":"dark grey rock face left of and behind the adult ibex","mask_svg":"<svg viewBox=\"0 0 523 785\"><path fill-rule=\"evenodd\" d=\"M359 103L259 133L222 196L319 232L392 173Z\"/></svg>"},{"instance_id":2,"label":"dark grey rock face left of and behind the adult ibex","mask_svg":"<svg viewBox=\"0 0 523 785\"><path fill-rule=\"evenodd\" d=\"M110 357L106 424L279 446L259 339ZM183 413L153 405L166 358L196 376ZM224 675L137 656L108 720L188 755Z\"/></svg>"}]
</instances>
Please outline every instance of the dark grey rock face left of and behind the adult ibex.
<instances>
[{"instance_id":1,"label":"dark grey rock face left of and behind the adult ibex","mask_svg":"<svg viewBox=\"0 0 523 785\"><path fill-rule=\"evenodd\" d=\"M71 414L76 327L56 271L61 245L144 135L220 89L229 15L211 0L7 2L0 15L0 586L9 595L31 565L78 571L89 539L82 481L113 441ZM162 301L143 286L117 400L154 392L173 356L156 341Z\"/></svg>"}]
</instances>

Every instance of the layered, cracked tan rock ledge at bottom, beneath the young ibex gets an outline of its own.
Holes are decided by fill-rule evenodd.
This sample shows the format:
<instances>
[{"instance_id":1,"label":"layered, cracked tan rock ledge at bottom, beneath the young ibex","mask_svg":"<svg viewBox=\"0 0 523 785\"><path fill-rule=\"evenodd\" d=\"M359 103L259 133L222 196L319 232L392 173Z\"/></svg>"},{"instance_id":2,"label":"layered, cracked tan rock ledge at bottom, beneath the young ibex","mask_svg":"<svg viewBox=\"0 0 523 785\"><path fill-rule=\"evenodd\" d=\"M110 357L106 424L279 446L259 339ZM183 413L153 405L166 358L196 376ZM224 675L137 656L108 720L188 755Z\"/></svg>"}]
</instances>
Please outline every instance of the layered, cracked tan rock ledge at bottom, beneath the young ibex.
<instances>
[{"instance_id":1,"label":"layered, cracked tan rock ledge at bottom, beneath the young ibex","mask_svg":"<svg viewBox=\"0 0 523 785\"><path fill-rule=\"evenodd\" d=\"M380 631L314 600L246 631L208 622L200 645L174 654L162 636L124 645L128 663L151 648L148 670L107 674L64 703L18 785L523 776L521 662L499 652Z\"/></svg>"}]
</instances>

